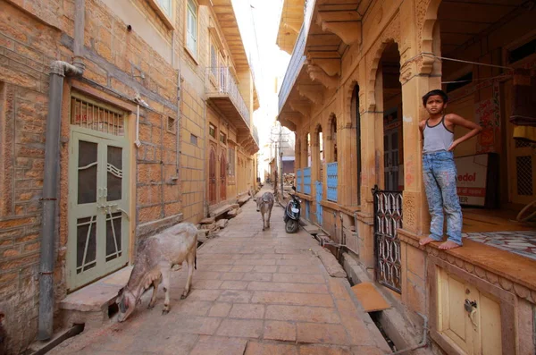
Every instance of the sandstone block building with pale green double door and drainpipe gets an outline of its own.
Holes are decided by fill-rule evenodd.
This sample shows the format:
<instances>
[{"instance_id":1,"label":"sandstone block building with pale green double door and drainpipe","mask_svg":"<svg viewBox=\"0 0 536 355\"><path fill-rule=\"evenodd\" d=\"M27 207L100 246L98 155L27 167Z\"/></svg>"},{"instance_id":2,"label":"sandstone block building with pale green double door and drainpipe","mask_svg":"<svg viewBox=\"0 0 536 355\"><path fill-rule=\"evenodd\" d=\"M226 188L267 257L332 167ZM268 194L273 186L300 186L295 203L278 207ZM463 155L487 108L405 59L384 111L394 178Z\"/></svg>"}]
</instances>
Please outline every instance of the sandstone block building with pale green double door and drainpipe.
<instances>
[{"instance_id":1,"label":"sandstone block building with pale green double door and drainpipe","mask_svg":"<svg viewBox=\"0 0 536 355\"><path fill-rule=\"evenodd\" d=\"M248 193L258 105L230 0L0 0L7 349L141 238Z\"/></svg>"}]
</instances>

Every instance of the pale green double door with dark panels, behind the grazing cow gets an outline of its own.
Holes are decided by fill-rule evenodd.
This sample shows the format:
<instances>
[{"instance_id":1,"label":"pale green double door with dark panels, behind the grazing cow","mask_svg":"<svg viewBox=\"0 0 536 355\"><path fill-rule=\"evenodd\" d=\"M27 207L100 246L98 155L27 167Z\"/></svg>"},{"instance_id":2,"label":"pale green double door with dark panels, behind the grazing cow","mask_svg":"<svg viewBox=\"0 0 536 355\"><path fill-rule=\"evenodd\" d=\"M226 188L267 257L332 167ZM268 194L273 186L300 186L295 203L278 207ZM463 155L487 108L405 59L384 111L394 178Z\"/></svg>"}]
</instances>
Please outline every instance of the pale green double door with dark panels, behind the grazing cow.
<instances>
[{"instance_id":1,"label":"pale green double door with dark panels, behind the grazing cow","mask_svg":"<svg viewBox=\"0 0 536 355\"><path fill-rule=\"evenodd\" d=\"M71 125L68 288L129 261L127 139Z\"/></svg>"}]
</instances>

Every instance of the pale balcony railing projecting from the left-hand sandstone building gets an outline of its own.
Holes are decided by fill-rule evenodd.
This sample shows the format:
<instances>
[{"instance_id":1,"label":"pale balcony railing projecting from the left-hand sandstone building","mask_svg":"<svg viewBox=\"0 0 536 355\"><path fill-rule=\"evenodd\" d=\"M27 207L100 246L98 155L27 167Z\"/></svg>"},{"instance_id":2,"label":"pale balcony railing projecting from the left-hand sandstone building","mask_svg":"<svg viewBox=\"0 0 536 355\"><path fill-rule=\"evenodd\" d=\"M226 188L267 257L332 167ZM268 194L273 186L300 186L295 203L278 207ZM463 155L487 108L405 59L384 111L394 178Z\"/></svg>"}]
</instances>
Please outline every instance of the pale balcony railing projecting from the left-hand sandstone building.
<instances>
[{"instance_id":1,"label":"pale balcony railing projecting from the left-hand sandstone building","mask_svg":"<svg viewBox=\"0 0 536 355\"><path fill-rule=\"evenodd\" d=\"M251 127L249 118L249 108L244 97L240 94L237 80L234 79L229 67L208 67L206 68L206 94L218 97L228 96L233 105L242 115L247 127Z\"/></svg>"}]
</instances>

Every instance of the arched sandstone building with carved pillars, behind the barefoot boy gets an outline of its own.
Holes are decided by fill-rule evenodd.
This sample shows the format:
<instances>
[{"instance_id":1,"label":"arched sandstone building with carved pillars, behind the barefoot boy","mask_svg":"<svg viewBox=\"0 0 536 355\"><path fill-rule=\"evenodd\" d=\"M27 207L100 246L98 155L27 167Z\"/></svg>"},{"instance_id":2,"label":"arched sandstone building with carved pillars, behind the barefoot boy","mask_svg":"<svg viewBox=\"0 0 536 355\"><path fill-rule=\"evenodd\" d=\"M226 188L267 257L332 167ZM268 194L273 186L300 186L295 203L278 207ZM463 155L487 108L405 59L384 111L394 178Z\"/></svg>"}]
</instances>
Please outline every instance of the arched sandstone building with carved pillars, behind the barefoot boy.
<instances>
[{"instance_id":1,"label":"arched sandstone building with carved pillars, behind the barefoot boy","mask_svg":"<svg viewBox=\"0 0 536 355\"><path fill-rule=\"evenodd\" d=\"M358 259L393 306L385 315L414 334L428 325L449 354L534 353L535 233L515 222L536 198L536 113L523 99L535 92L534 14L523 0L283 4L278 45L292 56L278 119L296 132L306 218ZM450 251L418 245L430 224L421 97L440 88L448 112L483 127L456 148L466 238ZM519 111L532 123L511 122Z\"/></svg>"}]
</instances>

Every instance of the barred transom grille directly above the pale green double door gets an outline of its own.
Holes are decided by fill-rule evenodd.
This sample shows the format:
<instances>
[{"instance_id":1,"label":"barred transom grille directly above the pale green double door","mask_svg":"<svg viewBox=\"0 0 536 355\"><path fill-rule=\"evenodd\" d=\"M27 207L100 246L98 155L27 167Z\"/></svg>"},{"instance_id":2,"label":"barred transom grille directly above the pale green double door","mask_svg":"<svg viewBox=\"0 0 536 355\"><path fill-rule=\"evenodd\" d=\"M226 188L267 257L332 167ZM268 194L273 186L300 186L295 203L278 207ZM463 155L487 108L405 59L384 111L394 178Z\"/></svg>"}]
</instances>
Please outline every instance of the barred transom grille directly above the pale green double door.
<instances>
[{"instance_id":1,"label":"barred transom grille directly above the pale green double door","mask_svg":"<svg viewBox=\"0 0 536 355\"><path fill-rule=\"evenodd\" d=\"M71 97L71 124L114 136L125 135L125 113L78 95Z\"/></svg>"}]
</instances>

